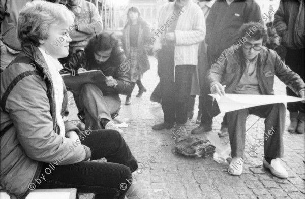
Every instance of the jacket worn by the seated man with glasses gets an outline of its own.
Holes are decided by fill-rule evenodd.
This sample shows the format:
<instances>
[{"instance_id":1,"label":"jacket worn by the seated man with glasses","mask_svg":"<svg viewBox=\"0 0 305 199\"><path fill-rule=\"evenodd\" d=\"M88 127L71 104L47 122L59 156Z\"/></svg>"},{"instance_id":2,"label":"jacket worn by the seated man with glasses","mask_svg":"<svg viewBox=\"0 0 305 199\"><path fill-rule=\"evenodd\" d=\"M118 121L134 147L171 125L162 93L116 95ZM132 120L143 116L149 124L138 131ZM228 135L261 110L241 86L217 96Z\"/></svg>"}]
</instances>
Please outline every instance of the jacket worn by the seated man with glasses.
<instances>
[{"instance_id":1,"label":"jacket worn by the seated man with glasses","mask_svg":"<svg viewBox=\"0 0 305 199\"><path fill-rule=\"evenodd\" d=\"M232 51L228 49L223 51L217 63L213 64L206 74L209 87L220 82L226 85L226 93L235 90L246 68L242 47L232 46L230 49L233 49L234 53L230 54ZM275 94L273 90L275 75L297 95L305 88L301 77L285 65L274 50L262 47L257 58L257 78L262 94Z\"/></svg>"}]
</instances>

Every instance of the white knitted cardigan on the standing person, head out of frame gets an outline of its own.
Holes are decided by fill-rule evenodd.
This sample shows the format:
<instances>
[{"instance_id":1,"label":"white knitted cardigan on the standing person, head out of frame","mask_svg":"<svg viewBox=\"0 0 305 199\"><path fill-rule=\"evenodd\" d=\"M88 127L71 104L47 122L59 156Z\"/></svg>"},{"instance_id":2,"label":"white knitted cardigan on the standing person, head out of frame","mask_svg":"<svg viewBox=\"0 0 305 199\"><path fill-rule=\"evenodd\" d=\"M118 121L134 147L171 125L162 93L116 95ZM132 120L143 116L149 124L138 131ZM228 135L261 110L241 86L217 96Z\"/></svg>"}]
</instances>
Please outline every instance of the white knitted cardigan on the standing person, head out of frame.
<instances>
[{"instance_id":1,"label":"white knitted cardigan on the standing person, head out of frame","mask_svg":"<svg viewBox=\"0 0 305 199\"><path fill-rule=\"evenodd\" d=\"M153 33L156 39L154 51L162 49L166 33L166 30L162 31L162 29L166 28L168 19L173 15L174 4L174 2L169 2L162 7L158 29ZM175 65L197 65L198 47L199 43L204 40L205 32L204 14L197 4L190 1L182 8L175 29Z\"/></svg>"}]
</instances>

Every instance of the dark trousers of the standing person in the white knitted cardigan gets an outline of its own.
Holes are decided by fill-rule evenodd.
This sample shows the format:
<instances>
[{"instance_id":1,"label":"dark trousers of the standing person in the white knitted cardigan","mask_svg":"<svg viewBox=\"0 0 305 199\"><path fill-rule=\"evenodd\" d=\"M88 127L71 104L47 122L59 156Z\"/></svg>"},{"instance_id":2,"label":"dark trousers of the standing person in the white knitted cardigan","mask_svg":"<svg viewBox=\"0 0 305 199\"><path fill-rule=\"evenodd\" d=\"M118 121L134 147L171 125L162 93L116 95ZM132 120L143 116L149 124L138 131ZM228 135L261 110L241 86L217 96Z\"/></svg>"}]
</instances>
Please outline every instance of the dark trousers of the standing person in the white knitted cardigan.
<instances>
[{"instance_id":1,"label":"dark trousers of the standing person in the white knitted cardigan","mask_svg":"<svg viewBox=\"0 0 305 199\"><path fill-rule=\"evenodd\" d=\"M160 77L162 110L164 121L169 124L185 124L188 116L189 96L195 65L177 65L174 51L160 50L158 53L158 75Z\"/></svg>"}]
</instances>

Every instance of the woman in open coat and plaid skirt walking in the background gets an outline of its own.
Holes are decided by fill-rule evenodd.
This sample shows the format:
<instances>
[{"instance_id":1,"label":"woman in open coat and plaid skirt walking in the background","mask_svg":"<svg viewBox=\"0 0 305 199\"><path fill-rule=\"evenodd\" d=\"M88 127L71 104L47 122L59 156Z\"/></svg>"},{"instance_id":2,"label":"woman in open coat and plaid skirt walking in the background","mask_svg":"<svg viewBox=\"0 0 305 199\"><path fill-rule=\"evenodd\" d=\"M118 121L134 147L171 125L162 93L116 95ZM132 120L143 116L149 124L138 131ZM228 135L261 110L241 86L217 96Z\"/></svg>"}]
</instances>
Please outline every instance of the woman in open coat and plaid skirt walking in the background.
<instances>
[{"instance_id":1,"label":"woman in open coat and plaid skirt walking in the background","mask_svg":"<svg viewBox=\"0 0 305 199\"><path fill-rule=\"evenodd\" d=\"M133 88L137 84L139 93L136 97L141 97L146 88L141 82L144 72L150 69L147 52L153 47L150 40L150 28L141 17L137 7L131 7L127 11L127 23L123 29L123 49L127 57L124 65L126 70L130 70ZM127 66L127 67L126 67ZM131 93L126 97L126 105L131 103Z\"/></svg>"}]
</instances>

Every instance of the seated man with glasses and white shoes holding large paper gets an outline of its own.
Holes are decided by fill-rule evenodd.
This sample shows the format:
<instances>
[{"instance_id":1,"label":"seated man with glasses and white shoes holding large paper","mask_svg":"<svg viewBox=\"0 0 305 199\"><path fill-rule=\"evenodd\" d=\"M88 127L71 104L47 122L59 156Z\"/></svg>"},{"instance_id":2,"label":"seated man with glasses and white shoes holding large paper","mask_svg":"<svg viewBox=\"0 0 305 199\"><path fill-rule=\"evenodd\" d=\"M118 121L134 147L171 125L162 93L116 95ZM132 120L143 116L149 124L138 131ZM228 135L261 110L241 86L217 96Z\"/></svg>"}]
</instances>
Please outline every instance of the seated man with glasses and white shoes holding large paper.
<instances>
[{"instance_id":1,"label":"seated man with glasses and white shoes holding large paper","mask_svg":"<svg viewBox=\"0 0 305 199\"><path fill-rule=\"evenodd\" d=\"M242 38L241 45L225 50L219 57L218 64L212 65L207 72L206 81L211 93L274 95L273 84L276 75L298 96L305 97L305 84L300 76L291 71L275 51L262 46L267 40L267 32L263 25L254 22L243 24L239 30L239 38ZM288 173L279 160L284 155L285 105L262 105L227 114L233 157L228 172L232 175L242 173L246 118L249 114L254 114L266 118L266 133L270 129L274 131L268 139L264 139L264 167L269 168L277 177L287 178ZM236 167L236 163L239 167Z\"/></svg>"}]
</instances>

